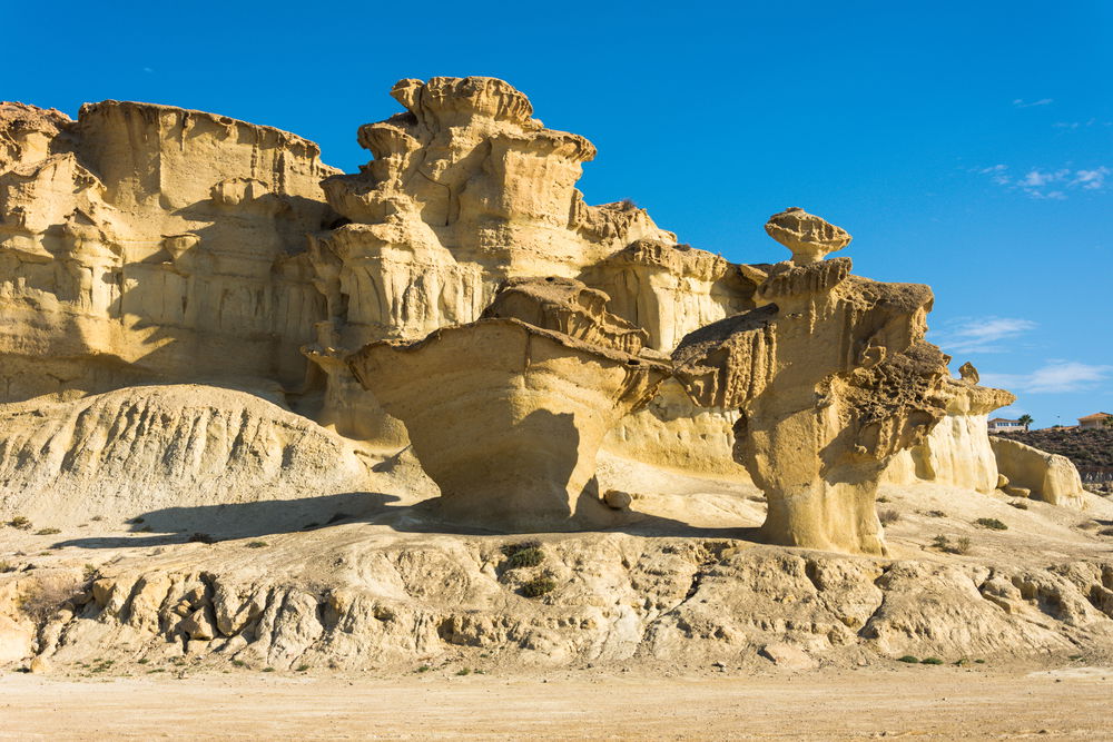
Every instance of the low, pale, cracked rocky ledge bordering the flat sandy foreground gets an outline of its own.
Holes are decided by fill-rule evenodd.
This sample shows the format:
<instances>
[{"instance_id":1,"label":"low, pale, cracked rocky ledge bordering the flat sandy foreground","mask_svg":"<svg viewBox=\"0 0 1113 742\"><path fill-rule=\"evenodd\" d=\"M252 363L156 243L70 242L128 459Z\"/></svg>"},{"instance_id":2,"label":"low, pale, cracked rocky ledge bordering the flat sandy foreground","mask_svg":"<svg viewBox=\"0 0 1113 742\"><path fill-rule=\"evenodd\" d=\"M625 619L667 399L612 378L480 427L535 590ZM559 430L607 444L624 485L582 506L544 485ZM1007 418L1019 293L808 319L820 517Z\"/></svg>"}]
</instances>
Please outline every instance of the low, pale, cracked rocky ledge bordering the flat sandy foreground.
<instances>
[{"instance_id":1,"label":"low, pale, cracked rocky ledge bordering the flat sandy foreground","mask_svg":"<svg viewBox=\"0 0 1113 742\"><path fill-rule=\"evenodd\" d=\"M885 562L610 534L546 541L540 564L508 568L513 546L362 540L268 573L235 544L191 544L186 567L156 557L106 565L89 582L77 571L6 574L0 646L56 666L116 656L120 670L183 656L213 669L412 672L493 656L519 667L760 670L770 645L848 667L906 654L1065 657L1113 639L1109 563ZM539 575L552 591L530 598L523 588ZM47 590L57 603L36 626L18 601Z\"/></svg>"}]
</instances>

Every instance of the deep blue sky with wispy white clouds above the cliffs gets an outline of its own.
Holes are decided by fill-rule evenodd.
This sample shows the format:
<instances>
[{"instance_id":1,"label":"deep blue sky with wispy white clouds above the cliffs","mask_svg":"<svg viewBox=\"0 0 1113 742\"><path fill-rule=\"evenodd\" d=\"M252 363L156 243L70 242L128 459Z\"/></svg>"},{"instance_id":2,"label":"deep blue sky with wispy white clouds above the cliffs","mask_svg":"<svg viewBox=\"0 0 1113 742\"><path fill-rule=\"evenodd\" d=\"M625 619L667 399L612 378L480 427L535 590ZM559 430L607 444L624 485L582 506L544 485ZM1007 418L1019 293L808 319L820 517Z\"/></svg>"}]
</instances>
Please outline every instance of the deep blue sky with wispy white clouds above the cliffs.
<instances>
[{"instance_id":1,"label":"deep blue sky with wispy white clouds above the cliffs","mask_svg":"<svg viewBox=\"0 0 1113 742\"><path fill-rule=\"evenodd\" d=\"M782 10L779 8L784 8ZM395 80L503 78L591 139L590 202L786 257L802 206L843 255L929 284L932 339L1036 426L1113 412L1113 3L13 3L0 97L144 100L277 126L354 170Z\"/></svg>"}]
</instances>

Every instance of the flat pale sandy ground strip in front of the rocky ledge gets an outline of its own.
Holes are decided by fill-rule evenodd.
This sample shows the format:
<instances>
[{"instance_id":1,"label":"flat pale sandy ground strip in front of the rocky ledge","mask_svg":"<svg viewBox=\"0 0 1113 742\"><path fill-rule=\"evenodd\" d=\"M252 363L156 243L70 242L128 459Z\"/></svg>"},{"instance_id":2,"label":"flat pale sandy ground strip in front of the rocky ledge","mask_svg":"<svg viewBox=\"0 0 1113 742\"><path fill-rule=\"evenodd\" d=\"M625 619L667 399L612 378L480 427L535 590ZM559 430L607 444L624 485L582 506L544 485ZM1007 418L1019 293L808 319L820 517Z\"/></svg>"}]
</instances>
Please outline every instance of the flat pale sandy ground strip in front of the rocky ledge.
<instances>
[{"instance_id":1,"label":"flat pale sandy ground strip in front of the rocky ledge","mask_svg":"<svg viewBox=\"0 0 1113 742\"><path fill-rule=\"evenodd\" d=\"M1113 667L792 676L0 677L0 739L1113 736Z\"/></svg>"}]
</instances>

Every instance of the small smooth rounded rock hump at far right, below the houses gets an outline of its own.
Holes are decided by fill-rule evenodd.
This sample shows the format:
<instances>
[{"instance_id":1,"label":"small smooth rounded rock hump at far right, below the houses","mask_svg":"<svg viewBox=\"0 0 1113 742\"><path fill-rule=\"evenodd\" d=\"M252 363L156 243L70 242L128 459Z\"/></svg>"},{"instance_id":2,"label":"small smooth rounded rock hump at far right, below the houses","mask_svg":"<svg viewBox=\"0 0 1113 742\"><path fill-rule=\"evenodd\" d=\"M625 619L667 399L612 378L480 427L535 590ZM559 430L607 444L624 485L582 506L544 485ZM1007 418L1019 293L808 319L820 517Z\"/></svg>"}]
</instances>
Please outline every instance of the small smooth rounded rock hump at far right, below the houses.
<instances>
[{"instance_id":1,"label":"small smooth rounded rock hump at far right, below the houses","mask_svg":"<svg viewBox=\"0 0 1113 742\"><path fill-rule=\"evenodd\" d=\"M1082 509L1085 491L1070 458L1033 448L1018 441L989 436L997 471L1006 492L1024 494L1052 505Z\"/></svg>"}]
</instances>

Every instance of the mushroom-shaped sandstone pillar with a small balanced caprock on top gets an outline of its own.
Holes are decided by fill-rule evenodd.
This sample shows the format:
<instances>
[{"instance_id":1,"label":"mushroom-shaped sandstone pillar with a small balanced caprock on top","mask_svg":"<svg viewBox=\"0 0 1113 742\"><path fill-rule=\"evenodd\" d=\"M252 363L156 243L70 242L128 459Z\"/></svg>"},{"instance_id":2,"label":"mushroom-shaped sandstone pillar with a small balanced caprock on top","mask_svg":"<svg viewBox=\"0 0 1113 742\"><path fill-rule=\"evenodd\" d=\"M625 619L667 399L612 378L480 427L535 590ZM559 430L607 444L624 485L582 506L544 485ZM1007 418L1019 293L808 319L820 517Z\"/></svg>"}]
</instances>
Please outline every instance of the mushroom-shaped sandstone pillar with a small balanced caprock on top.
<instances>
[{"instance_id":1,"label":"mushroom-shaped sandstone pillar with a small balanced caprock on top","mask_svg":"<svg viewBox=\"0 0 1113 742\"><path fill-rule=\"evenodd\" d=\"M825 224L771 217L792 260L750 268L758 308L686 337L676 373L696 403L740 408L735 454L769 499L768 540L883 553L878 478L944 417L946 357L923 339L930 289L819 259L849 241Z\"/></svg>"}]
</instances>

